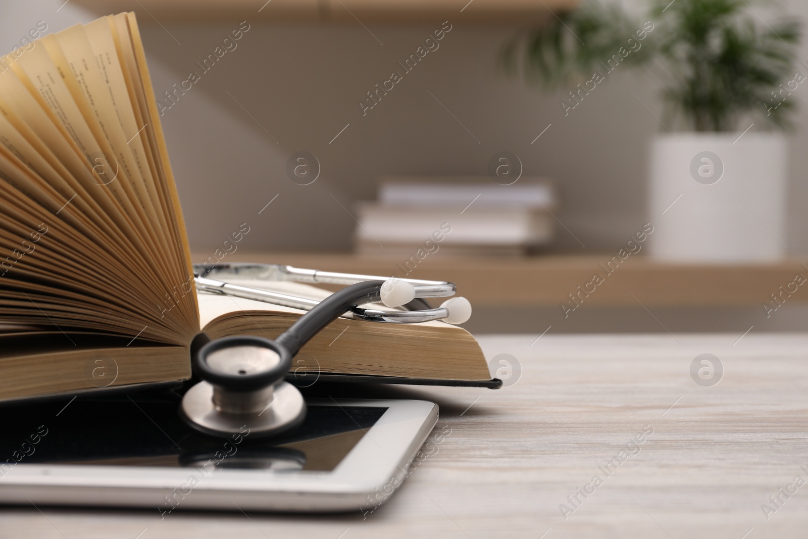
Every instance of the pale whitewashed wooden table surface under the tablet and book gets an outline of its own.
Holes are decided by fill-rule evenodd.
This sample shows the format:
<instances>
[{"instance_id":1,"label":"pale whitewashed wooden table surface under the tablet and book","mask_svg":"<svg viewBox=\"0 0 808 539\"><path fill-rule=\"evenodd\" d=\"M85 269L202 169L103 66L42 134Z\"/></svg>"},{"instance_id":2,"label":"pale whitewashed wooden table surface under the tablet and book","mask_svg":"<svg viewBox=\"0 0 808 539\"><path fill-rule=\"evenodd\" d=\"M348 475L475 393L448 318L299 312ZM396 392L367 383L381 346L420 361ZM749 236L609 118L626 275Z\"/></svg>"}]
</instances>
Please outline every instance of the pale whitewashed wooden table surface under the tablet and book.
<instances>
[{"instance_id":1,"label":"pale whitewashed wooden table surface under the tablet and book","mask_svg":"<svg viewBox=\"0 0 808 539\"><path fill-rule=\"evenodd\" d=\"M2 507L0 537L806 537L808 335L739 336L487 336L516 384L372 386L438 402L451 434L364 517ZM691 377L703 353L717 385Z\"/></svg>"}]
</instances>

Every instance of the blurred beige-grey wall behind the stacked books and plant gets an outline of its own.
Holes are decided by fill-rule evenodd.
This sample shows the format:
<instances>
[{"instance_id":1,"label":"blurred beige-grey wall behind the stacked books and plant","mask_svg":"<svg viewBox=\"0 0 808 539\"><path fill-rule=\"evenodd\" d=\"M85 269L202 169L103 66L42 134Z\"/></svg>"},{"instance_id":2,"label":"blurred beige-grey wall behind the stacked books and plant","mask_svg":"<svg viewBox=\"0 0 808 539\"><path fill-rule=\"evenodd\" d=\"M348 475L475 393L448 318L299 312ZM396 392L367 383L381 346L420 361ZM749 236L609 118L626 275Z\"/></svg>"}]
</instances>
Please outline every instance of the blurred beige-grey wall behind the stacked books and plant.
<instances>
[{"instance_id":1,"label":"blurred beige-grey wall behind the stacked books and plant","mask_svg":"<svg viewBox=\"0 0 808 539\"><path fill-rule=\"evenodd\" d=\"M793 12L808 15L808 5L792 3ZM40 19L59 30L95 16L70 4L57 12L60 5L4 6L0 46L11 48ZM158 95L191 70L201 74L162 118L193 246L214 246L246 221L258 232L246 238L251 247L347 249L354 221L339 204L351 210L354 201L375 196L378 176L485 175L490 156L503 149L520 156L527 174L559 180L565 204L559 217L587 248L616 246L633 234L644 222L646 146L659 122L629 90L659 114L650 78L618 68L565 117L558 95L542 95L498 71L499 47L515 28L469 25L458 15L440 48L364 117L359 99L392 70L402 71L397 62L441 21L368 30L358 23L252 23L238 48L201 74L196 62L240 21L161 27L141 19ZM806 50L801 59L808 60ZM801 211L808 200L801 181L806 123L803 107L792 143L786 241L801 254L808 252ZM322 165L312 185L301 187L285 174L298 150ZM581 249L563 230L559 243Z\"/></svg>"}]
</instances>

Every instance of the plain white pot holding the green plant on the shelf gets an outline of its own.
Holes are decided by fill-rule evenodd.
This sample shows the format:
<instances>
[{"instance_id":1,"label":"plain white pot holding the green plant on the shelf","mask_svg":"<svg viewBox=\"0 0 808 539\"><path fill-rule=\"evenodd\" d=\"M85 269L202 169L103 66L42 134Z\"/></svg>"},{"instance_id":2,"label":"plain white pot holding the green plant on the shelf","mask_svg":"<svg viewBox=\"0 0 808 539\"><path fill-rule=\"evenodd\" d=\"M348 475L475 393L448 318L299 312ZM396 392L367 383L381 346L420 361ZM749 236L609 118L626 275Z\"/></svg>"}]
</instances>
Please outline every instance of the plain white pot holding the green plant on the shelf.
<instances>
[{"instance_id":1,"label":"plain white pot holding the green plant on the shelf","mask_svg":"<svg viewBox=\"0 0 808 539\"><path fill-rule=\"evenodd\" d=\"M764 263L785 256L780 133L658 135L650 169L651 258Z\"/></svg>"}]
</instances>

